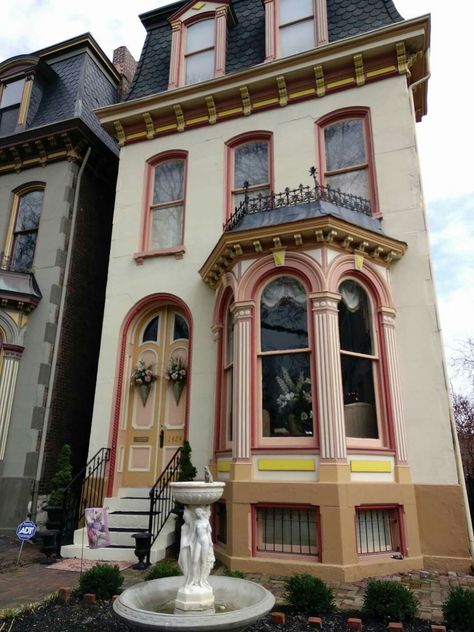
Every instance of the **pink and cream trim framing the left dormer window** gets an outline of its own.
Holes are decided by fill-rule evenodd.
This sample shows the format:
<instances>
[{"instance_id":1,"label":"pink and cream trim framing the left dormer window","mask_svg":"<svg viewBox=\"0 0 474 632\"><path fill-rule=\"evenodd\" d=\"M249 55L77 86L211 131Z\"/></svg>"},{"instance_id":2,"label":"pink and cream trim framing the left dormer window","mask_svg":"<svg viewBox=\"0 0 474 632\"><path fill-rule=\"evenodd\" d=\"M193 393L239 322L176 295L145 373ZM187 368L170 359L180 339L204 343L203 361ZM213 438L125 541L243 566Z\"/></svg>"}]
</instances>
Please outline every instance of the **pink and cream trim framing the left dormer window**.
<instances>
[{"instance_id":1,"label":"pink and cream trim framing the left dormer window","mask_svg":"<svg viewBox=\"0 0 474 632\"><path fill-rule=\"evenodd\" d=\"M180 15L189 9L187 5L179 13L170 18L171 23L171 58L168 89L186 85L186 29L196 22L213 20L214 22L214 77L225 74L227 47L227 11L228 6L205 11L181 21Z\"/></svg>"}]
</instances>

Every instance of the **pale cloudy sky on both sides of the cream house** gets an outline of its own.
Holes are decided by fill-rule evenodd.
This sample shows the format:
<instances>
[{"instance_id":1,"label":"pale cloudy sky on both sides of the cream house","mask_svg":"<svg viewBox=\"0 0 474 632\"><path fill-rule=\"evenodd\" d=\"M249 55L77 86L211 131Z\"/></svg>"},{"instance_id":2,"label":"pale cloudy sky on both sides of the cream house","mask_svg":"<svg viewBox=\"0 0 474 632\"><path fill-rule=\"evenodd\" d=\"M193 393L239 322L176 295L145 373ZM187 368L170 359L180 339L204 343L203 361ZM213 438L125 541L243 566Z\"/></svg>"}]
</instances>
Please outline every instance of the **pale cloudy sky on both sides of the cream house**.
<instances>
[{"instance_id":1,"label":"pale cloudy sky on both sides of the cream house","mask_svg":"<svg viewBox=\"0 0 474 632\"><path fill-rule=\"evenodd\" d=\"M166 0L3 0L0 61L90 31L111 57L126 45L138 59L138 14ZM474 178L470 74L474 3L395 0L405 18L432 16L428 115L417 125L443 336L448 356L474 336Z\"/></svg>"}]
</instances>

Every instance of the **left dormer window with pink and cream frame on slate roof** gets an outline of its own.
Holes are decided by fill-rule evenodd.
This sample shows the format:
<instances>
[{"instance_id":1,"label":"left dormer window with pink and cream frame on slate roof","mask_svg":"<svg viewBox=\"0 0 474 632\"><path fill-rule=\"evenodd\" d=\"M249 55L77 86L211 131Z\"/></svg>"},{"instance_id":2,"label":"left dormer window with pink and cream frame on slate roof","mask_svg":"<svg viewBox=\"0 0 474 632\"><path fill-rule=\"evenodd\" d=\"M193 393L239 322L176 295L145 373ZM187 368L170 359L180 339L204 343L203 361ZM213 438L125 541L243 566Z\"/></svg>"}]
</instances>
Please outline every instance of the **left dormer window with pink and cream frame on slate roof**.
<instances>
[{"instance_id":1,"label":"left dormer window with pink and cream frame on slate roof","mask_svg":"<svg viewBox=\"0 0 474 632\"><path fill-rule=\"evenodd\" d=\"M225 73L229 0L189 2L169 19L172 29L169 89Z\"/></svg>"}]
</instances>

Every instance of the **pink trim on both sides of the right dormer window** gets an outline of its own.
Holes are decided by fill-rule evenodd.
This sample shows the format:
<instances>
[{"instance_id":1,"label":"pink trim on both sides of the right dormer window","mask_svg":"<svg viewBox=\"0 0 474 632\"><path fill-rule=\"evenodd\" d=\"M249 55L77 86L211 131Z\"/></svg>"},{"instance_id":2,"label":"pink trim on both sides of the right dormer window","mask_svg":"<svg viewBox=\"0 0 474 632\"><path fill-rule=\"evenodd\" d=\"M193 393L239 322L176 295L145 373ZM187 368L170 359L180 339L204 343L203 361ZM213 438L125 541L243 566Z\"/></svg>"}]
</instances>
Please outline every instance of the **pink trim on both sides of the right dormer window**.
<instances>
[{"instance_id":1,"label":"pink trim on both sides of the right dormer window","mask_svg":"<svg viewBox=\"0 0 474 632\"><path fill-rule=\"evenodd\" d=\"M273 61L280 54L280 0L264 0L265 3L265 61ZM313 0L314 45L329 42L327 0Z\"/></svg>"}]
</instances>

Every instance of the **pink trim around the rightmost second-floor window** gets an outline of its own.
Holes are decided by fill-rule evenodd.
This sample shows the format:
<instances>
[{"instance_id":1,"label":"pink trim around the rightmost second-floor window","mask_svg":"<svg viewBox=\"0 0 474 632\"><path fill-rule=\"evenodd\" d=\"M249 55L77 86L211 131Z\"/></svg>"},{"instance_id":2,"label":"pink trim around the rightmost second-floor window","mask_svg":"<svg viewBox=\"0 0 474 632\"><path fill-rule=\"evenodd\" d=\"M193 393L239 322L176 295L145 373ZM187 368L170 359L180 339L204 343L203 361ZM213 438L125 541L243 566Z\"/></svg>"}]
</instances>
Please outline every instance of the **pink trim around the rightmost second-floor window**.
<instances>
[{"instance_id":1,"label":"pink trim around the rightmost second-floor window","mask_svg":"<svg viewBox=\"0 0 474 632\"><path fill-rule=\"evenodd\" d=\"M324 143L324 128L334 123L345 120L361 119L364 123L364 139L367 154L367 173L369 182L370 202L372 206L372 217L382 217L379 207L379 199L377 193L377 176L374 158L374 143L372 133L372 123L370 117L370 109L367 107L349 107L335 110L326 114L316 121L316 150L319 163L319 179L321 184L325 183L326 172L326 152Z\"/></svg>"}]
</instances>

